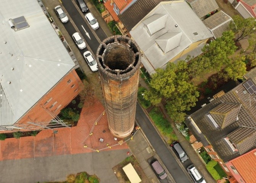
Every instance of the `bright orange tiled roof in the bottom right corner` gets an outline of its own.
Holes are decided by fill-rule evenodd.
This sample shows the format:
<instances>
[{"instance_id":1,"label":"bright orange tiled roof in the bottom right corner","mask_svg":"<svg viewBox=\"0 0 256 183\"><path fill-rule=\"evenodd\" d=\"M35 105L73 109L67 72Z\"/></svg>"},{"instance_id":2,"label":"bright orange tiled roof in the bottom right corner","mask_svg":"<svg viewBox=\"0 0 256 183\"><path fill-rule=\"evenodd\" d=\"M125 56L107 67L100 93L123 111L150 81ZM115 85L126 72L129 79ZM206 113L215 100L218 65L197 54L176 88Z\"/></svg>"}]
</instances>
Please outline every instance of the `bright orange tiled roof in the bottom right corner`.
<instances>
[{"instance_id":1,"label":"bright orange tiled roof in the bottom right corner","mask_svg":"<svg viewBox=\"0 0 256 183\"><path fill-rule=\"evenodd\" d=\"M230 161L246 183L256 180L256 149Z\"/></svg>"}]
</instances>

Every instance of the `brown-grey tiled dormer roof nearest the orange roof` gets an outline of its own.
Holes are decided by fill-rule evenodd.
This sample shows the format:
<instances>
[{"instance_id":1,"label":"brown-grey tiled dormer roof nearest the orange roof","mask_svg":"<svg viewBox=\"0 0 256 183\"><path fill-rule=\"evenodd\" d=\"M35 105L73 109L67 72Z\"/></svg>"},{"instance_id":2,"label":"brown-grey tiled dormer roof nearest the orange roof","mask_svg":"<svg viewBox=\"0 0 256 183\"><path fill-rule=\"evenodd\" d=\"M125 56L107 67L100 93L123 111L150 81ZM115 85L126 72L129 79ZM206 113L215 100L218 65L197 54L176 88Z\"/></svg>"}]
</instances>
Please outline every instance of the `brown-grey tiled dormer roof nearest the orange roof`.
<instances>
[{"instance_id":1,"label":"brown-grey tiled dormer roof nearest the orange roof","mask_svg":"<svg viewBox=\"0 0 256 183\"><path fill-rule=\"evenodd\" d=\"M235 131L227 135L230 140L237 146L242 155L256 143L256 129L248 127L239 127Z\"/></svg>"}]
</instances>

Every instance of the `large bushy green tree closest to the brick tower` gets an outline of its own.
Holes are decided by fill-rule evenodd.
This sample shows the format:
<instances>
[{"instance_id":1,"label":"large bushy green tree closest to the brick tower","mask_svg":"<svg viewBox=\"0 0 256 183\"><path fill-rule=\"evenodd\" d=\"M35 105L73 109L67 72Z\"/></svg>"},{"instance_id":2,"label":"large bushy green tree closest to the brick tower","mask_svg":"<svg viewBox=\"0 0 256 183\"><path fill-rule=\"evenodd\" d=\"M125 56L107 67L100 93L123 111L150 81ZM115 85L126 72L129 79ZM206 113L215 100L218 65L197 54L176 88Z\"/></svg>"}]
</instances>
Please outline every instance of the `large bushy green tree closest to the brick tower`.
<instances>
[{"instance_id":1,"label":"large bushy green tree closest to the brick tower","mask_svg":"<svg viewBox=\"0 0 256 183\"><path fill-rule=\"evenodd\" d=\"M167 63L166 69L156 69L150 82L150 90L145 92L145 99L153 105L166 98L166 109L168 115L177 122L182 122L185 117L183 111L190 110L195 106L199 92L189 82L188 65L182 60Z\"/></svg>"}]
</instances>

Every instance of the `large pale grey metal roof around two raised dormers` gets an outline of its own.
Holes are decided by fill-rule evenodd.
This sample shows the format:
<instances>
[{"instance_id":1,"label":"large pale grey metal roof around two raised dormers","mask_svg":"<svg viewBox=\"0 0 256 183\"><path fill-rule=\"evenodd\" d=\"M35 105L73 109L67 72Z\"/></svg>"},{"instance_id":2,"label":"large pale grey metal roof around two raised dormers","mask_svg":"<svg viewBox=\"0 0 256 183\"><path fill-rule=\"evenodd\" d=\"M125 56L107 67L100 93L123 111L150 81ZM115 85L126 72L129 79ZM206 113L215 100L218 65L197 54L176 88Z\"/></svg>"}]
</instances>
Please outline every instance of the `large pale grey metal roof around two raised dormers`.
<instances>
[{"instance_id":1,"label":"large pale grey metal roof around two raised dormers","mask_svg":"<svg viewBox=\"0 0 256 183\"><path fill-rule=\"evenodd\" d=\"M164 28L153 33L153 35L150 35L145 28L143 21L155 14L167 15L167 20ZM155 24L155 26L158 25ZM158 39L167 32L181 33L179 33L179 36L175 36L175 38L172 39L172 41L174 41L172 44L175 45L175 48L171 47L168 42L167 49L169 49L169 51L164 53L160 48L161 46L155 41L155 39ZM143 61L150 62L151 68L147 68L147 65L149 64L144 65L143 63L148 71L152 70L152 67L154 69L163 67L167 62L169 62L169 60L190 46L190 44L213 37L213 34L196 16L185 1L159 3L155 9L153 9L134 28L132 28L130 35L142 50L144 54L143 57L147 57L147 59L142 60L142 63ZM150 74L151 73L153 72L150 72Z\"/></svg>"}]
</instances>

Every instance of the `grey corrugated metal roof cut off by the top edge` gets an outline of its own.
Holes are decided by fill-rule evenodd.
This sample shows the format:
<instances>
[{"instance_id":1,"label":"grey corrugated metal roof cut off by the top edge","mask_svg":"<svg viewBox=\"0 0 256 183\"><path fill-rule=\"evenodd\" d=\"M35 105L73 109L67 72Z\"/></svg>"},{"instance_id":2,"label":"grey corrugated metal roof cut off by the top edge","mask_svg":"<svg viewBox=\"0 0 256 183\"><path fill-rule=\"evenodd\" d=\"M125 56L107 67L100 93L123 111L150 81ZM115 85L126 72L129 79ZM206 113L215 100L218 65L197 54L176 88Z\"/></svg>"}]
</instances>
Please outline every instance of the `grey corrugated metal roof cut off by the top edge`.
<instances>
[{"instance_id":1,"label":"grey corrugated metal roof cut off by the top edge","mask_svg":"<svg viewBox=\"0 0 256 183\"><path fill-rule=\"evenodd\" d=\"M215 0L186 0L199 18L219 8Z\"/></svg>"}]
</instances>

